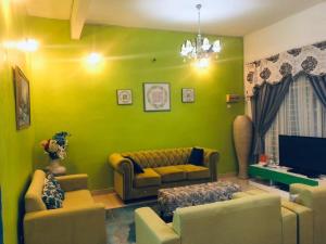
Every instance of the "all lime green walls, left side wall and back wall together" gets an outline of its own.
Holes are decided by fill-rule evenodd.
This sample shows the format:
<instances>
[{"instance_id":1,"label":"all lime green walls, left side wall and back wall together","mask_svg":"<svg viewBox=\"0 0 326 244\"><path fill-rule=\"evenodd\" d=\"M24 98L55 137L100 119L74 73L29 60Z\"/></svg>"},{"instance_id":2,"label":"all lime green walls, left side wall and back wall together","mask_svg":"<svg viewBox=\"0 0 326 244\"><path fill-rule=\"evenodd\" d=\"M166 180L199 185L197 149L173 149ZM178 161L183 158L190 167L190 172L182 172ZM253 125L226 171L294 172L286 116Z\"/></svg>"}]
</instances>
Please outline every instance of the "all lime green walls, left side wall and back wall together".
<instances>
[{"instance_id":1,"label":"all lime green walls, left side wall and back wall together","mask_svg":"<svg viewBox=\"0 0 326 244\"><path fill-rule=\"evenodd\" d=\"M178 55L193 34L114 26L90 26L70 39L66 21L26 17L1 1L0 40L34 37L41 43L29 56L0 48L0 183L5 244L18 243L22 197L33 168L43 168L42 139L66 130L68 171L87 172L92 189L112 187L106 157L112 152L201 145L221 152L218 172L236 170L231 121L243 104L227 108L226 93L242 94L242 38L221 37L218 61L198 72ZM26 34L28 29L28 33ZM214 37L211 37L214 38ZM98 51L103 63L91 69L84 56ZM156 62L152 62L153 57ZM15 128L11 67L30 80L32 127ZM145 113L142 82L171 84L172 110ZM193 87L196 103L183 104L180 89ZM116 89L133 89L134 104L116 105Z\"/></svg>"}]
</instances>

